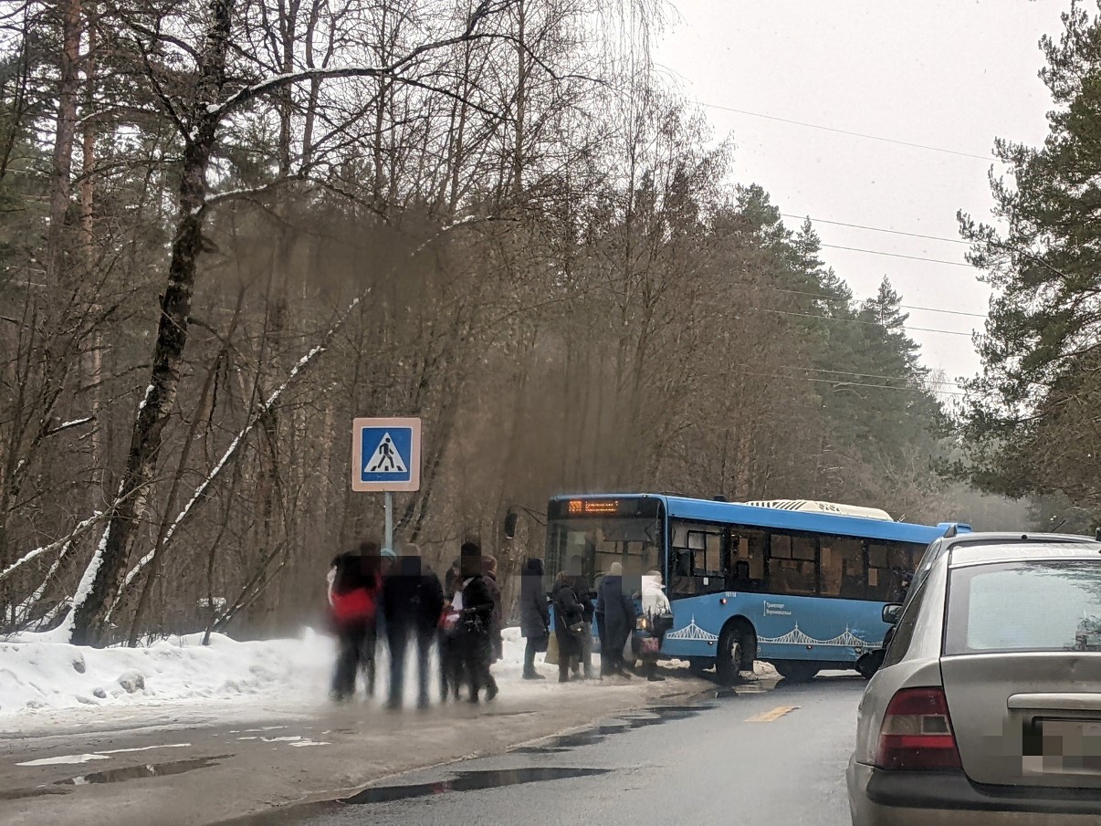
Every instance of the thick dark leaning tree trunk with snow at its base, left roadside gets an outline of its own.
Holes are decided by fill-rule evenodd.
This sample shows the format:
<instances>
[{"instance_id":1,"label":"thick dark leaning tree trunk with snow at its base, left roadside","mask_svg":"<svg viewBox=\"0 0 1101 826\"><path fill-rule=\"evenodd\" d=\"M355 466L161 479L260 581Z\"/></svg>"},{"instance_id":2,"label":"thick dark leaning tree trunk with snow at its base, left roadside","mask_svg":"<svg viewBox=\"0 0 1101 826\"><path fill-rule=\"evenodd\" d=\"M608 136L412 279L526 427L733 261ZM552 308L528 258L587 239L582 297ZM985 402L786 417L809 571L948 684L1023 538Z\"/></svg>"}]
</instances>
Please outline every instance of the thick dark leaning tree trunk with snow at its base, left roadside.
<instances>
[{"instance_id":1,"label":"thick dark leaning tree trunk with snow at its base, left roadside","mask_svg":"<svg viewBox=\"0 0 1101 826\"><path fill-rule=\"evenodd\" d=\"M206 172L219 120L219 113L209 111L207 107L218 100L225 84L233 2L211 0L210 3L211 19L199 65L194 109L195 128L184 149L179 217L172 243L168 284L161 297L152 376L130 438L130 452L118 492L121 501L103 531L74 598L69 621L72 641L78 645L102 644L107 638L108 629L103 627L103 620L118 594L130 551L145 517L164 426L176 400L179 367L187 344L196 261L203 246Z\"/></svg>"}]
</instances>

